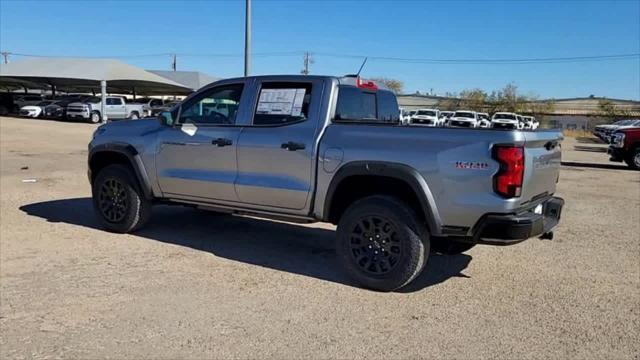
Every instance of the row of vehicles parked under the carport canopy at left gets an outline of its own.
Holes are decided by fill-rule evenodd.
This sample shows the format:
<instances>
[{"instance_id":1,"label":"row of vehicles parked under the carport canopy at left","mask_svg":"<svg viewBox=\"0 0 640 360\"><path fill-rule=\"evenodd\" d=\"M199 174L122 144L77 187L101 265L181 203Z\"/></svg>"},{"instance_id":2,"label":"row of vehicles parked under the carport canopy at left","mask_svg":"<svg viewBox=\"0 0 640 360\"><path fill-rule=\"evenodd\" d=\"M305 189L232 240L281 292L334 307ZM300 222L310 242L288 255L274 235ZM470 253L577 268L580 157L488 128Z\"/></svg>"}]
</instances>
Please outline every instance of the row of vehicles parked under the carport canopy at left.
<instances>
[{"instance_id":1,"label":"row of vehicles parked under the carport canopy at left","mask_svg":"<svg viewBox=\"0 0 640 360\"><path fill-rule=\"evenodd\" d=\"M102 99L90 95L62 95L45 99L39 95L2 94L0 115L17 113L32 118L68 119L99 123L109 119L139 119L154 116L172 108L177 102L155 98L128 100L124 96L107 96L105 114L101 113Z\"/></svg>"}]
</instances>

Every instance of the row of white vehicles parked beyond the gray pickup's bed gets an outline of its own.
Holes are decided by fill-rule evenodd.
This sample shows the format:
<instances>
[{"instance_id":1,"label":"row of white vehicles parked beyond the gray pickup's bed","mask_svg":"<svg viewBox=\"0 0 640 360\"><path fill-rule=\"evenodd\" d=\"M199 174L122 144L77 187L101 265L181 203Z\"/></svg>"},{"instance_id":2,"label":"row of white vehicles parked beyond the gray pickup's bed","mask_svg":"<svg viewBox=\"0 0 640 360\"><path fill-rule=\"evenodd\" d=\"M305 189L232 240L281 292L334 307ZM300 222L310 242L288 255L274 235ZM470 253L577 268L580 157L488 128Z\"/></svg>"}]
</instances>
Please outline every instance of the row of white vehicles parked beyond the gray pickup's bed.
<instances>
[{"instance_id":1,"label":"row of white vehicles parked beyond the gray pickup's bed","mask_svg":"<svg viewBox=\"0 0 640 360\"><path fill-rule=\"evenodd\" d=\"M440 111L438 109L400 110L404 125L464 128L497 128L511 130L535 130L540 123L533 116L511 112L489 114L472 110Z\"/></svg>"}]
</instances>

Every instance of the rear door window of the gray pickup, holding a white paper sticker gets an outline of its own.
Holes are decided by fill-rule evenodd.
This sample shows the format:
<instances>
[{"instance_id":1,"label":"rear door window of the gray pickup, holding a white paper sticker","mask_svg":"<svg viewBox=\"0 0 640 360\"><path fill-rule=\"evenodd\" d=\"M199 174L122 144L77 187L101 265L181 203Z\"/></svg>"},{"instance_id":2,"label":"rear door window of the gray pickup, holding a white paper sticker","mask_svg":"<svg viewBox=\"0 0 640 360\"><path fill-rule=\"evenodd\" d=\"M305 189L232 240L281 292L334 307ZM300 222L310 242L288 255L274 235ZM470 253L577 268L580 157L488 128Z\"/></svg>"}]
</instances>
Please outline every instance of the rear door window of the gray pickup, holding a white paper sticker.
<instances>
[{"instance_id":1,"label":"rear door window of the gray pickup, holding a white paper sticker","mask_svg":"<svg viewBox=\"0 0 640 360\"><path fill-rule=\"evenodd\" d=\"M309 118L310 83L264 83L253 115L253 125L287 125Z\"/></svg>"}]
</instances>

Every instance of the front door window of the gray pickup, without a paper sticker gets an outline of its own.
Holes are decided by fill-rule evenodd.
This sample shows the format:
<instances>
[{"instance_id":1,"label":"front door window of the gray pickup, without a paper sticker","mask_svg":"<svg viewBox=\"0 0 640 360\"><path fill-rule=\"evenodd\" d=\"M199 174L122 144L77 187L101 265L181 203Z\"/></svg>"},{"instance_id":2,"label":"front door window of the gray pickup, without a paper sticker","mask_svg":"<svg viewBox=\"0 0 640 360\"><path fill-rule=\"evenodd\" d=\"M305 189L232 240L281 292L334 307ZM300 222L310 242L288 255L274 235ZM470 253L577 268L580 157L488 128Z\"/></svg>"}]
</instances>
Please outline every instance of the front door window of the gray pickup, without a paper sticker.
<instances>
[{"instance_id":1,"label":"front door window of the gray pickup, without a paper sticker","mask_svg":"<svg viewBox=\"0 0 640 360\"><path fill-rule=\"evenodd\" d=\"M227 85L209 89L182 106L182 124L233 125L244 85Z\"/></svg>"}]
</instances>

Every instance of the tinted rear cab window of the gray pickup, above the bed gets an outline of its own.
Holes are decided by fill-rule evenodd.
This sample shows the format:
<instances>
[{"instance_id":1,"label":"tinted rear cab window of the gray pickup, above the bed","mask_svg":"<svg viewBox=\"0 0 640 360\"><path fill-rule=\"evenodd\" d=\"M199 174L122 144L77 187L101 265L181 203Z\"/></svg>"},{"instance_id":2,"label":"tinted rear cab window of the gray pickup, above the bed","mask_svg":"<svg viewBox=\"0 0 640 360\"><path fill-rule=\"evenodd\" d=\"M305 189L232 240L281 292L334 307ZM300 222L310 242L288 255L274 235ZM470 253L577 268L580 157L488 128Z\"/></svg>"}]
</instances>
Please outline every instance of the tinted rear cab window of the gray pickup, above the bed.
<instances>
[{"instance_id":1,"label":"tinted rear cab window of the gray pickup, above the bed","mask_svg":"<svg viewBox=\"0 0 640 360\"><path fill-rule=\"evenodd\" d=\"M338 88L335 122L397 123L400 110L390 91L371 92L353 86Z\"/></svg>"}]
</instances>

